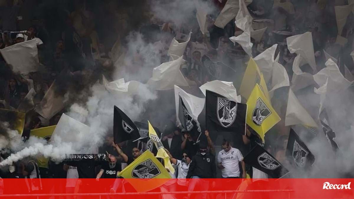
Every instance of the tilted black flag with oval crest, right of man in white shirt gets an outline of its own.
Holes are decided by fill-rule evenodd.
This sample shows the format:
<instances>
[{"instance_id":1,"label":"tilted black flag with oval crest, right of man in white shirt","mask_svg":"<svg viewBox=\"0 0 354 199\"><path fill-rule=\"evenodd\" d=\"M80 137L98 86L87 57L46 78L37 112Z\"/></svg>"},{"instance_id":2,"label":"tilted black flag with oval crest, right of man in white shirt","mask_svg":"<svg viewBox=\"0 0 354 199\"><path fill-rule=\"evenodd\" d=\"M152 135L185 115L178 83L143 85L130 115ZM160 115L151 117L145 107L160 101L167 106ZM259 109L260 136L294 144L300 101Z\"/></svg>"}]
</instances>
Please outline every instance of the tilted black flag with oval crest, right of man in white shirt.
<instances>
[{"instance_id":1,"label":"tilted black flag with oval crest, right of man in white shirt","mask_svg":"<svg viewBox=\"0 0 354 199\"><path fill-rule=\"evenodd\" d=\"M263 147L256 145L244 158L246 164L255 167L271 176L272 178L281 178L289 173L283 165L280 164Z\"/></svg>"}]
</instances>

